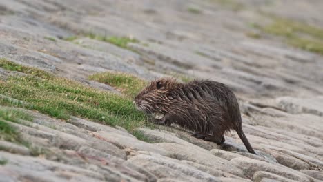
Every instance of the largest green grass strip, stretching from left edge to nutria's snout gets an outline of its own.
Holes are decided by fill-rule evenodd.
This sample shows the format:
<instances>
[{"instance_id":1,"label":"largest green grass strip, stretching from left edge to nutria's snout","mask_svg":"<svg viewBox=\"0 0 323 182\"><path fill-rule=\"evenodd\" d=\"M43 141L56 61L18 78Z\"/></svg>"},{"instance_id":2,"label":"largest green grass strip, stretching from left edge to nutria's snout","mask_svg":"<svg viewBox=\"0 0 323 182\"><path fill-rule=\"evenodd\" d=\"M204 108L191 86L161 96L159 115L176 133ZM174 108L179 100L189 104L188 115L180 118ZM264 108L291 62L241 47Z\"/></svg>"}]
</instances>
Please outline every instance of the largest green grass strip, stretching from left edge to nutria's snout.
<instances>
[{"instance_id":1,"label":"largest green grass strip, stretching from left edge to nutria's snout","mask_svg":"<svg viewBox=\"0 0 323 182\"><path fill-rule=\"evenodd\" d=\"M6 62L3 68L15 68ZM68 120L70 115L98 121L108 125L120 125L132 131L146 123L146 116L135 109L132 99L61 77L44 77L41 70L20 65L26 76L9 77L1 82L0 94L28 103L25 108L39 110L43 114Z\"/></svg>"}]
</instances>

